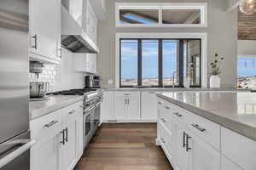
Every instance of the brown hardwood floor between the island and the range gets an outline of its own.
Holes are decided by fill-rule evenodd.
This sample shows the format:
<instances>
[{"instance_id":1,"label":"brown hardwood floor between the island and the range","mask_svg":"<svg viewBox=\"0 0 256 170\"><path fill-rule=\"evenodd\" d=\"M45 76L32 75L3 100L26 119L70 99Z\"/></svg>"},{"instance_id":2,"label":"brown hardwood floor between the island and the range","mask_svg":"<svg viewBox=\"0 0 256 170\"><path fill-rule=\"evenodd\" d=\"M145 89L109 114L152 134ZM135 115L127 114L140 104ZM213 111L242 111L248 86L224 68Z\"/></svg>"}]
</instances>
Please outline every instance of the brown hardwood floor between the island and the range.
<instances>
[{"instance_id":1,"label":"brown hardwood floor between the island and the range","mask_svg":"<svg viewBox=\"0 0 256 170\"><path fill-rule=\"evenodd\" d=\"M156 123L104 123L75 170L172 170L155 138Z\"/></svg>"}]
</instances>

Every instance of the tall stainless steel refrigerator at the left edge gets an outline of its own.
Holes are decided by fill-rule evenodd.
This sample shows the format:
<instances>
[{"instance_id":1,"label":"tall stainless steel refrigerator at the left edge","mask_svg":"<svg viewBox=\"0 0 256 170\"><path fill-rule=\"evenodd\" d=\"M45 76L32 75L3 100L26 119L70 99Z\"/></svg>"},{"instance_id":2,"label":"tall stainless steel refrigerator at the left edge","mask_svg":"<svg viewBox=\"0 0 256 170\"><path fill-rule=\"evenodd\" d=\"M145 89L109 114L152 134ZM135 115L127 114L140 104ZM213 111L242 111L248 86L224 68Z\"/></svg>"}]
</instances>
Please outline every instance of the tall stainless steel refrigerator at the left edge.
<instances>
[{"instance_id":1,"label":"tall stainless steel refrigerator at the left edge","mask_svg":"<svg viewBox=\"0 0 256 170\"><path fill-rule=\"evenodd\" d=\"M28 0L0 0L0 169L27 170Z\"/></svg>"}]
</instances>

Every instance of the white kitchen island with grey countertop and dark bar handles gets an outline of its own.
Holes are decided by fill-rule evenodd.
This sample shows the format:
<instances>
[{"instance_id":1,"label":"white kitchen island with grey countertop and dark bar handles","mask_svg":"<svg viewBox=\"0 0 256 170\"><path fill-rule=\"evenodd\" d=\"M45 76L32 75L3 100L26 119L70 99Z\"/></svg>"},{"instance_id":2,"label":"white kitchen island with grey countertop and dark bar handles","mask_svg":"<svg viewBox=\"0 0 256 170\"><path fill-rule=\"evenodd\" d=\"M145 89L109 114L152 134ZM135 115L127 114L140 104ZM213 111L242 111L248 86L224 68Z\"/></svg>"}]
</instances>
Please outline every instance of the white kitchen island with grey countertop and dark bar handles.
<instances>
[{"instance_id":1,"label":"white kitchen island with grey countertop and dark bar handles","mask_svg":"<svg viewBox=\"0 0 256 170\"><path fill-rule=\"evenodd\" d=\"M156 144L174 168L256 168L256 94L201 91L157 96Z\"/></svg>"}]
</instances>

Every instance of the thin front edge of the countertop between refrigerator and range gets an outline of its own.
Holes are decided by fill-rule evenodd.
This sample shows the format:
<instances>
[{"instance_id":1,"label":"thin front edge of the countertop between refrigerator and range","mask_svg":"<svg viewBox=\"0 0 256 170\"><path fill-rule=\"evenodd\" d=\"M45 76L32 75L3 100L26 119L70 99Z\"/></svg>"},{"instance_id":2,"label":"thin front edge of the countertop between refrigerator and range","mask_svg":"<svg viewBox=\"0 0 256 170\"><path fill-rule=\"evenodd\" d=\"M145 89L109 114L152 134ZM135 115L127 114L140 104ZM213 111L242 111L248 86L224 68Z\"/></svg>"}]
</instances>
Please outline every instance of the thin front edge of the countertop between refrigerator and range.
<instances>
[{"instance_id":1,"label":"thin front edge of the countertop between refrigerator and range","mask_svg":"<svg viewBox=\"0 0 256 170\"><path fill-rule=\"evenodd\" d=\"M62 101L55 105L49 105L49 106L46 106L41 109L36 109L36 110L30 111L30 113L29 113L30 121L35 120L41 116L46 116L49 113L52 113L54 111L58 111L64 107L67 107L68 105L73 105L75 103L78 103L79 101L82 101L83 99L84 99L83 96L78 96L77 98L67 99L67 100Z\"/></svg>"}]
</instances>

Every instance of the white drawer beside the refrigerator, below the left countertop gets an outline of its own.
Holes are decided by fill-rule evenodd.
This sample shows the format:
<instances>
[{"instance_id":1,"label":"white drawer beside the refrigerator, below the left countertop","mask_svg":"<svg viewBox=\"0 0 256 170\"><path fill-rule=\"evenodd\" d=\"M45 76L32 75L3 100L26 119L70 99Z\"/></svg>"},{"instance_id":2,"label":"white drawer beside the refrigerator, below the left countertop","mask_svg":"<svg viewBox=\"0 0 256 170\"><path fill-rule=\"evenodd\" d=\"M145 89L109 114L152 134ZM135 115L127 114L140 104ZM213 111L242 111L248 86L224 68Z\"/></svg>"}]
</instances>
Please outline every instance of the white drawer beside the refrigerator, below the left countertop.
<instances>
[{"instance_id":1,"label":"white drawer beside the refrigerator, below the left countertop","mask_svg":"<svg viewBox=\"0 0 256 170\"><path fill-rule=\"evenodd\" d=\"M54 111L46 116L38 117L30 122L32 139L51 138L61 131L62 112Z\"/></svg>"}]
</instances>

